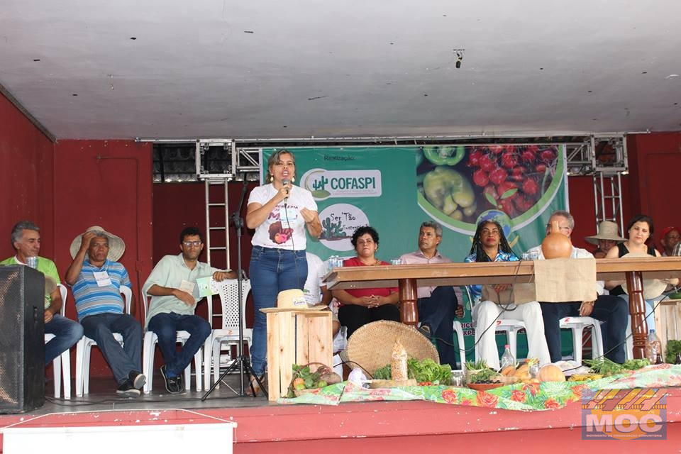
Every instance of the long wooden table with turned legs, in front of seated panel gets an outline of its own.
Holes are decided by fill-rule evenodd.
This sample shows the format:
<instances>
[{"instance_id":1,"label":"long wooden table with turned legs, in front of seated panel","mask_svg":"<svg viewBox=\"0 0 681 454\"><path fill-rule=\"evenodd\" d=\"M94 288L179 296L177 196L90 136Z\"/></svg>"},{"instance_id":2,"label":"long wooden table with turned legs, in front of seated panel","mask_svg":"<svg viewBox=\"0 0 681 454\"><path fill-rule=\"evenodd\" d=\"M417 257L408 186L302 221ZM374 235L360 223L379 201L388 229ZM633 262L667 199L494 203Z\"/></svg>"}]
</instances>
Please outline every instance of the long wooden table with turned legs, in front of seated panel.
<instances>
[{"instance_id":1,"label":"long wooden table with turned legs, in front of seated panel","mask_svg":"<svg viewBox=\"0 0 681 454\"><path fill-rule=\"evenodd\" d=\"M596 260L598 280L625 280L629 287L629 313L633 356L643 358L648 335L643 279L681 276L681 257L613 258ZM416 326L416 289L438 285L503 284L533 282L534 263L482 262L428 265L380 265L333 268L325 279L329 289L399 287L403 323Z\"/></svg>"}]
</instances>

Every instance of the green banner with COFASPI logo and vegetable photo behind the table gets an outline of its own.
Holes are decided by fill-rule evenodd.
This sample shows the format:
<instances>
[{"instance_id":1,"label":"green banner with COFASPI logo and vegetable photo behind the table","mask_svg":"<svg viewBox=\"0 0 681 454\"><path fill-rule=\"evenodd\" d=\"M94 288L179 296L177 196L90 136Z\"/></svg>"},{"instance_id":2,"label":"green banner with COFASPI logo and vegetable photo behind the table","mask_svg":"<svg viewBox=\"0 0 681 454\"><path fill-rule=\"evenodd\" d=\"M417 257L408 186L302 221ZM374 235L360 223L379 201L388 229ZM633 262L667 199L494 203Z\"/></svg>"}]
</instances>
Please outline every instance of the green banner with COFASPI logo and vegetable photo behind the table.
<instances>
[{"instance_id":1,"label":"green banner with COFASPI logo and vegetable photo behind the table","mask_svg":"<svg viewBox=\"0 0 681 454\"><path fill-rule=\"evenodd\" d=\"M307 249L323 260L355 255L353 231L371 225L380 235L377 257L389 261L416 250L421 222L434 220L443 226L440 252L460 262L486 218L502 224L520 256L541 243L551 212L567 208L562 145L289 150L323 226ZM263 149L261 162L274 151Z\"/></svg>"}]
</instances>

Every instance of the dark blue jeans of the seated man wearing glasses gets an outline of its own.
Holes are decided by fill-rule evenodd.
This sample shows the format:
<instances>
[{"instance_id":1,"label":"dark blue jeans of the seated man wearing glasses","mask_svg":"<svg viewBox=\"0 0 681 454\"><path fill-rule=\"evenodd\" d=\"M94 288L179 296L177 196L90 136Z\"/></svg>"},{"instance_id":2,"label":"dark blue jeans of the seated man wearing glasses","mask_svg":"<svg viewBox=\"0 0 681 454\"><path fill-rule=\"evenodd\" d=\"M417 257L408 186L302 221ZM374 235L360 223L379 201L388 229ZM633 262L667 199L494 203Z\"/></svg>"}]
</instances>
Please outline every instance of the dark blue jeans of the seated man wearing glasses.
<instances>
[{"instance_id":1,"label":"dark blue jeans of the seated man wearing glasses","mask_svg":"<svg viewBox=\"0 0 681 454\"><path fill-rule=\"evenodd\" d=\"M149 330L156 333L158 346L165 360L165 375L173 378L181 375L192 362L206 338L211 326L197 315L180 315L175 312L156 314L149 321ZM177 351L177 331L187 331L189 339ZM199 375L199 372L196 372Z\"/></svg>"}]
</instances>

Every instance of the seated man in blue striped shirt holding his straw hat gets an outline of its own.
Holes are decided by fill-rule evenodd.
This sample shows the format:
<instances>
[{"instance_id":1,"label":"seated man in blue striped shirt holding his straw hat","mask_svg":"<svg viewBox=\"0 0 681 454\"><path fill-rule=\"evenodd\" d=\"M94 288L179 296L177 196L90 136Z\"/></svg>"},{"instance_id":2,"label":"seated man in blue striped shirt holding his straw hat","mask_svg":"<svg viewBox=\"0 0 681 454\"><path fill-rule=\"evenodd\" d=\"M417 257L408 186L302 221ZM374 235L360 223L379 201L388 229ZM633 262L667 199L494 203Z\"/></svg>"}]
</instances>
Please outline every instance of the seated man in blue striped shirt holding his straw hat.
<instances>
[{"instance_id":1,"label":"seated man in blue striped shirt holding his straw hat","mask_svg":"<svg viewBox=\"0 0 681 454\"><path fill-rule=\"evenodd\" d=\"M123 311L121 286L130 287L131 283L126 268L116 261L123 255L125 243L99 226L83 233L79 247L78 239L71 245L74 260L66 272L66 282L72 286L76 300L78 321L85 336L96 341L114 372L116 393L139 396L146 382L140 372L142 326ZM114 333L121 333L123 346Z\"/></svg>"}]
</instances>

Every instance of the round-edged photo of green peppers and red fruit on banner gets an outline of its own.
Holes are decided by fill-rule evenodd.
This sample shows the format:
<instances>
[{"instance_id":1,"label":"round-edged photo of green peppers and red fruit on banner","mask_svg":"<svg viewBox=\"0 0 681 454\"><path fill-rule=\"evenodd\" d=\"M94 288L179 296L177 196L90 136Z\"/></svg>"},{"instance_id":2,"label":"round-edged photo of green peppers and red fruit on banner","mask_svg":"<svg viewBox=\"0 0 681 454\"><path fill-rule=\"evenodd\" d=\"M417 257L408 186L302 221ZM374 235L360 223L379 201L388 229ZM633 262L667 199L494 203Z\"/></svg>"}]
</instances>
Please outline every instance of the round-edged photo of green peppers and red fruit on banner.
<instances>
[{"instance_id":1,"label":"round-edged photo of green peppers and red fruit on banner","mask_svg":"<svg viewBox=\"0 0 681 454\"><path fill-rule=\"evenodd\" d=\"M516 231L546 211L563 189L562 151L559 145L423 147L416 167L419 205L461 233L494 218L513 247L521 238Z\"/></svg>"}]
</instances>

